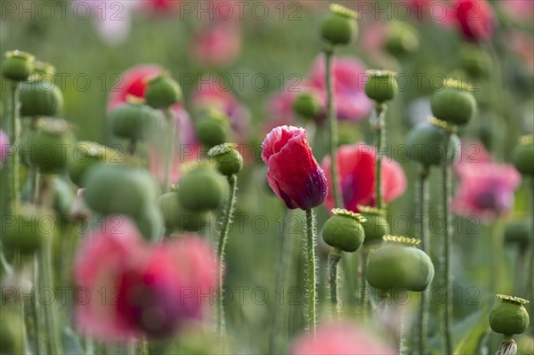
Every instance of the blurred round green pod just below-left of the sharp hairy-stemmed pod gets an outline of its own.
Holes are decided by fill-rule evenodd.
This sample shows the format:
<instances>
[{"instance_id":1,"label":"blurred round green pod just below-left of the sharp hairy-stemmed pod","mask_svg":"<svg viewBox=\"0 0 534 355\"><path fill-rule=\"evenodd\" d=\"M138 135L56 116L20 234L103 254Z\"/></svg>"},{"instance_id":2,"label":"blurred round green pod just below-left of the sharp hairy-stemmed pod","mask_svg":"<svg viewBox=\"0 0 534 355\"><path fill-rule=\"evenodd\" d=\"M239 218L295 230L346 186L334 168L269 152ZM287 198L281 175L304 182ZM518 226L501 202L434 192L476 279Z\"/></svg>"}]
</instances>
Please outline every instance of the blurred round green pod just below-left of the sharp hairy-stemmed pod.
<instances>
[{"instance_id":1,"label":"blurred round green pod just below-left of the sharp hairy-stemmed pod","mask_svg":"<svg viewBox=\"0 0 534 355\"><path fill-rule=\"evenodd\" d=\"M192 212L206 212L223 204L226 184L213 168L198 166L178 182L180 204Z\"/></svg>"}]
</instances>

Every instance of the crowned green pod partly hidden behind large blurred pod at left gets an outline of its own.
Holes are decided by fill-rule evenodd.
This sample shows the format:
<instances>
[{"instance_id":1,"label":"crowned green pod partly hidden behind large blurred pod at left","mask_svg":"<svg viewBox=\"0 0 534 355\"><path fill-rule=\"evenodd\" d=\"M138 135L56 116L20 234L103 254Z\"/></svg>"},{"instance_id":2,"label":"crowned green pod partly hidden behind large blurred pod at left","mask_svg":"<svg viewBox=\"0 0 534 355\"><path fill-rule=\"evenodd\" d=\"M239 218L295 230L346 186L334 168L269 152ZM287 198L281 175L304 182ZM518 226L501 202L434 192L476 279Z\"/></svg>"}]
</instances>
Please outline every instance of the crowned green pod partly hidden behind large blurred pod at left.
<instances>
[{"instance_id":1,"label":"crowned green pod partly hidden behind large blurred pod at left","mask_svg":"<svg viewBox=\"0 0 534 355\"><path fill-rule=\"evenodd\" d=\"M78 141L69 157L70 180L78 186L82 184L84 175L91 167L97 164L122 164L124 157L114 149L95 143L93 141Z\"/></svg>"}]
</instances>

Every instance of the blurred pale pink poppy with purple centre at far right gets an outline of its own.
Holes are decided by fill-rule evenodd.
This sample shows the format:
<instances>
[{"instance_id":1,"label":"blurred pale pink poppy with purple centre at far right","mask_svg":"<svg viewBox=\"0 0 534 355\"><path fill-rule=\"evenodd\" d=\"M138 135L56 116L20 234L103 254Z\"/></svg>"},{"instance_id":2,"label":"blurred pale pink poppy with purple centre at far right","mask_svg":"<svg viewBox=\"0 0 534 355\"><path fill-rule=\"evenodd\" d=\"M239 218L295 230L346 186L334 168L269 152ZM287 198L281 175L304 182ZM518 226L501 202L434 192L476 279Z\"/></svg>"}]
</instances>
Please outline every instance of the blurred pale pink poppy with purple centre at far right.
<instances>
[{"instance_id":1,"label":"blurred pale pink poppy with purple centre at far right","mask_svg":"<svg viewBox=\"0 0 534 355\"><path fill-rule=\"evenodd\" d=\"M475 215L483 221L502 216L514 206L514 190L521 175L513 165L483 161L457 165L460 184L451 208L456 214Z\"/></svg>"}]
</instances>

